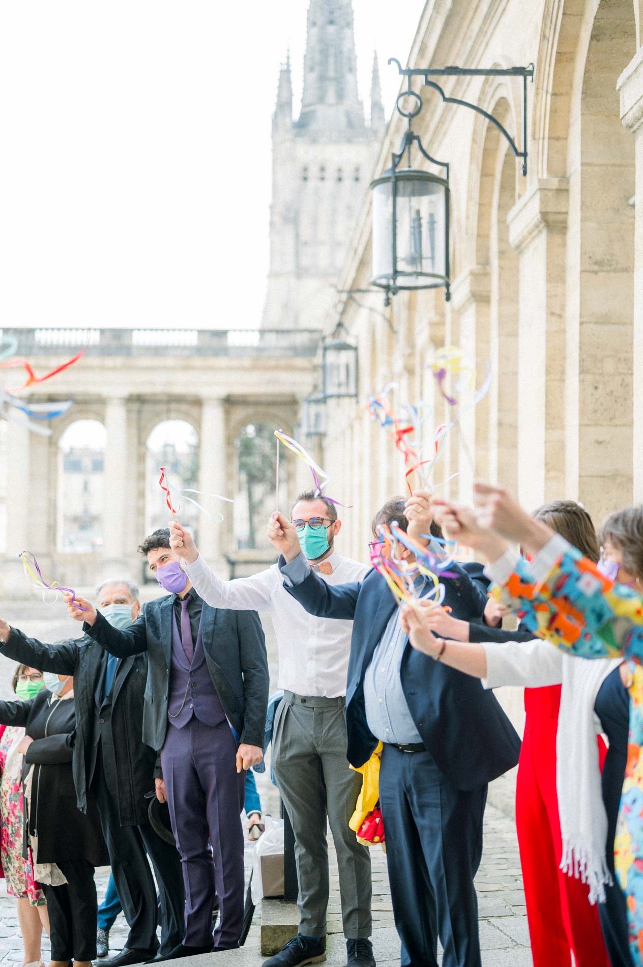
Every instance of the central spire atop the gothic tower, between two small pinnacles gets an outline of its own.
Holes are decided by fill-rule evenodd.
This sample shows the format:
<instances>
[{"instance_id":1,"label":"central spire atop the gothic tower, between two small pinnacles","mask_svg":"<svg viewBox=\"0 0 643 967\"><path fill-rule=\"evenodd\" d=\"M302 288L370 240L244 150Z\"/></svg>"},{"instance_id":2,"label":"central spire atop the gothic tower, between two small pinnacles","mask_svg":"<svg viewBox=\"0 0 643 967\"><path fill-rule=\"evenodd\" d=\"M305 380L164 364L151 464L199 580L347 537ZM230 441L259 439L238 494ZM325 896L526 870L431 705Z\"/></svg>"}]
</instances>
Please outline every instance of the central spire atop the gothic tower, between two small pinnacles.
<instances>
[{"instance_id":1,"label":"central spire atop the gothic tower, between two small pinnacles","mask_svg":"<svg viewBox=\"0 0 643 967\"><path fill-rule=\"evenodd\" d=\"M352 0L310 0L298 128L361 130Z\"/></svg>"}]
</instances>

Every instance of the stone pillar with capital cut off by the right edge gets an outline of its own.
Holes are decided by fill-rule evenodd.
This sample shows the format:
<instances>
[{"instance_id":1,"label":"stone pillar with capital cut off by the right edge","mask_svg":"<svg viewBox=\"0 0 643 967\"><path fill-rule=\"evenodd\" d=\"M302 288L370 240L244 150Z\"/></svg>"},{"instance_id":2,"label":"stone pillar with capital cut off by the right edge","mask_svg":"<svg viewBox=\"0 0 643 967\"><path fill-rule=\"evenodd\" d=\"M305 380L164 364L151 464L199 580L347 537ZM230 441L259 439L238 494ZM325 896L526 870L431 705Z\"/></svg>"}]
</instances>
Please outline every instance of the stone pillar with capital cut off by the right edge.
<instances>
[{"instance_id":1,"label":"stone pillar with capital cut off by the right edge","mask_svg":"<svg viewBox=\"0 0 643 967\"><path fill-rule=\"evenodd\" d=\"M633 386L643 379L643 48L629 62L617 82L621 95L621 120L634 135L635 208L634 208L634 314L633 314ZM633 499L643 501L643 394L633 393Z\"/></svg>"}]
</instances>

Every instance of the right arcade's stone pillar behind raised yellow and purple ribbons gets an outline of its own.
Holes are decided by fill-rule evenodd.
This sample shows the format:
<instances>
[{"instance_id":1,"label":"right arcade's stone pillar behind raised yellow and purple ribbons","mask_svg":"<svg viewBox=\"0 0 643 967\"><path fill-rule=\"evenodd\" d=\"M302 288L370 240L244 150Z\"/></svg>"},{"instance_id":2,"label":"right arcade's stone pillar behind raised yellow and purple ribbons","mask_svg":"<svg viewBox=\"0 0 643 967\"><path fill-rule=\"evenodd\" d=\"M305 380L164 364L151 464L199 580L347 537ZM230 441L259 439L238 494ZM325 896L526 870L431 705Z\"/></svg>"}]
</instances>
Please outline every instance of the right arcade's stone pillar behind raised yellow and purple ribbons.
<instances>
[{"instance_id":1,"label":"right arcade's stone pillar behind raised yellow and purple ribbons","mask_svg":"<svg viewBox=\"0 0 643 967\"><path fill-rule=\"evenodd\" d=\"M453 310L459 321L462 352L475 364L477 382L482 382L489 359L489 270L474 266L454 279L452 285ZM458 417L459 430L456 483L460 500L470 503L474 477L488 477L488 399L478 407L464 407Z\"/></svg>"}]
</instances>

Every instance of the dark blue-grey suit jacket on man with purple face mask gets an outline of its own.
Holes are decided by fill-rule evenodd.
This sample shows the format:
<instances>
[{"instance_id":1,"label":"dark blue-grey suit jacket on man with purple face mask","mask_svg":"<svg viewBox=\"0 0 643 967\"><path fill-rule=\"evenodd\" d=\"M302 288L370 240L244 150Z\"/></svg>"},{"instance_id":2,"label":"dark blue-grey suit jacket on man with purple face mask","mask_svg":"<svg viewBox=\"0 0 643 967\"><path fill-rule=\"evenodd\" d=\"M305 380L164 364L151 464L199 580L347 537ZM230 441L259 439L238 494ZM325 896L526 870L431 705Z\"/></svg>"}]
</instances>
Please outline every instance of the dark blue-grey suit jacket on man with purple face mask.
<instances>
[{"instance_id":1,"label":"dark blue-grey suit jacket on man with purple face mask","mask_svg":"<svg viewBox=\"0 0 643 967\"><path fill-rule=\"evenodd\" d=\"M112 628L99 612L84 630L119 658L147 652L143 742L161 750L167 730L167 694L172 654L174 595L143 605L132 628ZM266 642L256 611L231 611L203 604L201 636L205 659L223 712L240 743L263 747L270 676Z\"/></svg>"}]
</instances>

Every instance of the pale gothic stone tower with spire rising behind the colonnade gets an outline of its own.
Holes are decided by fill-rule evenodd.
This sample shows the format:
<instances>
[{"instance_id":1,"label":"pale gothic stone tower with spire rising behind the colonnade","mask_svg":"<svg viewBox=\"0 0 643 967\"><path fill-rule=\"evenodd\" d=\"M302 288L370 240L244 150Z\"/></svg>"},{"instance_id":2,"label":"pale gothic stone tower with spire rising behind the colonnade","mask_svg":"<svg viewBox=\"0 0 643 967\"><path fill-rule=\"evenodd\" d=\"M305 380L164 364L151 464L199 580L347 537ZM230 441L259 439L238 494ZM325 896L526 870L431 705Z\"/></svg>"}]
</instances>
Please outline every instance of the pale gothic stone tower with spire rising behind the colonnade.
<instances>
[{"instance_id":1,"label":"pale gothic stone tower with spire rising behind the colonnade","mask_svg":"<svg viewBox=\"0 0 643 967\"><path fill-rule=\"evenodd\" d=\"M352 0L310 0L302 109L293 121L288 56L273 115L267 329L319 329L336 301L337 277L384 133L377 58L370 100L366 124Z\"/></svg>"}]
</instances>

